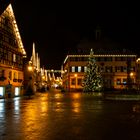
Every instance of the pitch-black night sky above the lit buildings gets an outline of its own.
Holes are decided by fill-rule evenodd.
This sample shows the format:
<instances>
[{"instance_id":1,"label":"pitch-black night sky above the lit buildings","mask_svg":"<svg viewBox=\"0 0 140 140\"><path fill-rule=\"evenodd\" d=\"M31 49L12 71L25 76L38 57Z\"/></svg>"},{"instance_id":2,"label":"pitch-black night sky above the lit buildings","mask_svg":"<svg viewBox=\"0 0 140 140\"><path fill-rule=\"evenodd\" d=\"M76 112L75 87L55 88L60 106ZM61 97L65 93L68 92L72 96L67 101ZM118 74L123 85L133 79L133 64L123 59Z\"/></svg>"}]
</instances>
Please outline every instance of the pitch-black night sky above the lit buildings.
<instances>
[{"instance_id":1,"label":"pitch-black night sky above the lit buildings","mask_svg":"<svg viewBox=\"0 0 140 140\"><path fill-rule=\"evenodd\" d=\"M67 51L75 49L83 38L92 38L97 25L112 40L124 42L134 50L139 48L140 24L136 5L116 0L96 3L12 1L27 56L31 56L35 42L41 66L47 69L60 69Z\"/></svg>"}]
</instances>

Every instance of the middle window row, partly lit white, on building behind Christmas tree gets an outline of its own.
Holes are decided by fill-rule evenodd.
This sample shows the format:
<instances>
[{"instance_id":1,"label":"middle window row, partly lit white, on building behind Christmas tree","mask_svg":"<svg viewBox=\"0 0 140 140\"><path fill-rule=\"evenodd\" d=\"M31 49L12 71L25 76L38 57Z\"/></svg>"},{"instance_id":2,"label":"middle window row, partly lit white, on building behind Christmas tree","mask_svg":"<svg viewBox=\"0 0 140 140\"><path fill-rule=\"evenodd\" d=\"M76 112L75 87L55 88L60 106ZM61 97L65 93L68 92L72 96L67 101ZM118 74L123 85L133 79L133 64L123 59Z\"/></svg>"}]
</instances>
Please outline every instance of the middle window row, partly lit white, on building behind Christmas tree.
<instances>
[{"instance_id":1,"label":"middle window row, partly lit white, on building behind Christmas tree","mask_svg":"<svg viewBox=\"0 0 140 140\"><path fill-rule=\"evenodd\" d=\"M128 68L125 66L98 67L99 72L127 72L127 69ZM87 71L87 66L72 66L72 67L70 67L70 72L86 72L86 71ZM131 67L131 71L135 72L135 67Z\"/></svg>"}]
</instances>

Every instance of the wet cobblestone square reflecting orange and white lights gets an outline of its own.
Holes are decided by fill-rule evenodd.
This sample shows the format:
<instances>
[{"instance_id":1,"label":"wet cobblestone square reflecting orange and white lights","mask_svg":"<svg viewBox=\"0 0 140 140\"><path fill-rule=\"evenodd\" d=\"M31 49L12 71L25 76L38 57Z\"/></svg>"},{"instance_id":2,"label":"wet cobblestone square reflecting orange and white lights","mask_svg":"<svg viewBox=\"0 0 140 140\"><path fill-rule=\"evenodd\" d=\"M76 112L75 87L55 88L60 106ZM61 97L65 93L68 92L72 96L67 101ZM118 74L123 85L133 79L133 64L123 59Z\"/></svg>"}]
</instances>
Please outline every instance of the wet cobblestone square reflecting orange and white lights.
<instances>
[{"instance_id":1,"label":"wet cobblestone square reflecting orange and white lights","mask_svg":"<svg viewBox=\"0 0 140 140\"><path fill-rule=\"evenodd\" d=\"M139 140L140 102L48 92L0 99L0 140Z\"/></svg>"}]
</instances>

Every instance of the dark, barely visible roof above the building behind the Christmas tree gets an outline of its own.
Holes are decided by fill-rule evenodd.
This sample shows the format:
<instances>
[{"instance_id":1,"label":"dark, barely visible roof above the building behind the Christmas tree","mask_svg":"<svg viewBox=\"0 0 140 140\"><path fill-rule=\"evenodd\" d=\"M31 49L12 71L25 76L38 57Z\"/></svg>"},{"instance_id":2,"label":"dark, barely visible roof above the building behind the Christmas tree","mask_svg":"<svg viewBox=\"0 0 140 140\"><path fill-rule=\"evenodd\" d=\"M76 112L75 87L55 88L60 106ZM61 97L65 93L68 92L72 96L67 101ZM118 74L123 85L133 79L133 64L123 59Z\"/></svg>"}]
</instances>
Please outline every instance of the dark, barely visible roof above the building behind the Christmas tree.
<instances>
[{"instance_id":1,"label":"dark, barely visible roof above the building behind the Christmas tree","mask_svg":"<svg viewBox=\"0 0 140 140\"><path fill-rule=\"evenodd\" d=\"M76 49L70 50L69 55L88 55L90 49L93 49L94 54L97 55L136 55L129 49L126 49L122 44L108 42L108 41L84 41L78 44Z\"/></svg>"}]
</instances>

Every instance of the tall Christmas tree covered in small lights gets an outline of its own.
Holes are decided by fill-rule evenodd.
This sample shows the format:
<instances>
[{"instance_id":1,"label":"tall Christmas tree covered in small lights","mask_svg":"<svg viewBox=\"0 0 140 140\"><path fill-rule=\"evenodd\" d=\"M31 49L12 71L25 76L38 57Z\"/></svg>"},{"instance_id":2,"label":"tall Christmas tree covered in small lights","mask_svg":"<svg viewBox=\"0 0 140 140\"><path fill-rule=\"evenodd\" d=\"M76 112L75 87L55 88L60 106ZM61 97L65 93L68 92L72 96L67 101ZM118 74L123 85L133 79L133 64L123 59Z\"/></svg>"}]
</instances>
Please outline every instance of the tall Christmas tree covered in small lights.
<instances>
[{"instance_id":1,"label":"tall Christmas tree covered in small lights","mask_svg":"<svg viewBox=\"0 0 140 140\"><path fill-rule=\"evenodd\" d=\"M83 79L83 91L93 92L100 91L103 87L103 81L101 74L98 72L98 65L94 57L93 50L90 51L89 62L87 65L87 71Z\"/></svg>"}]
</instances>

